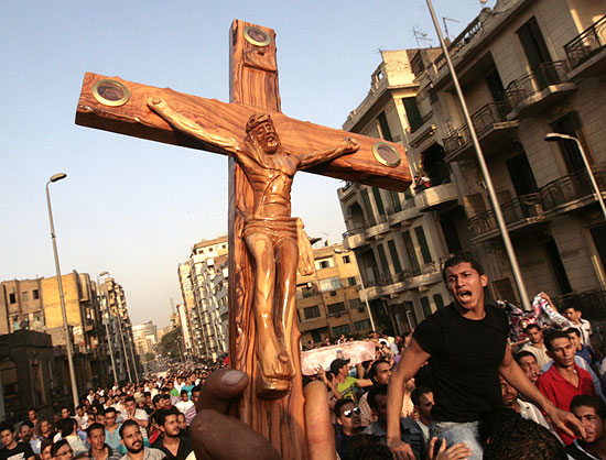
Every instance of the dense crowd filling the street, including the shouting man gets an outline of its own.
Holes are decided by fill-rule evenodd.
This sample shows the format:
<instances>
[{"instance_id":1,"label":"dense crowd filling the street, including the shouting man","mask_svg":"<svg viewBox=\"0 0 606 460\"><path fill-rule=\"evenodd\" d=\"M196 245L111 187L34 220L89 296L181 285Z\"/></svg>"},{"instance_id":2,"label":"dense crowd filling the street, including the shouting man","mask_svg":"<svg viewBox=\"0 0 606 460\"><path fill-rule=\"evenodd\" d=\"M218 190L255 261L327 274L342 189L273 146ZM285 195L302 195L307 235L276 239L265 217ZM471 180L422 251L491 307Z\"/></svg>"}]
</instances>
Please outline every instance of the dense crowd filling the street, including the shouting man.
<instances>
[{"instance_id":1,"label":"dense crowd filling the street, including the shouting man","mask_svg":"<svg viewBox=\"0 0 606 460\"><path fill-rule=\"evenodd\" d=\"M453 304L410 335L371 332L374 360L337 358L305 377L304 386L326 387L338 458L606 459L606 365L589 321L569 307L566 327L530 322L512 343L506 311L485 305L488 280L476 260L453 258L443 275ZM18 426L0 426L0 460L193 460L195 403L223 366L91 388L75 413L62 407L52 418L32 408ZM220 372L227 382L234 371Z\"/></svg>"}]
</instances>

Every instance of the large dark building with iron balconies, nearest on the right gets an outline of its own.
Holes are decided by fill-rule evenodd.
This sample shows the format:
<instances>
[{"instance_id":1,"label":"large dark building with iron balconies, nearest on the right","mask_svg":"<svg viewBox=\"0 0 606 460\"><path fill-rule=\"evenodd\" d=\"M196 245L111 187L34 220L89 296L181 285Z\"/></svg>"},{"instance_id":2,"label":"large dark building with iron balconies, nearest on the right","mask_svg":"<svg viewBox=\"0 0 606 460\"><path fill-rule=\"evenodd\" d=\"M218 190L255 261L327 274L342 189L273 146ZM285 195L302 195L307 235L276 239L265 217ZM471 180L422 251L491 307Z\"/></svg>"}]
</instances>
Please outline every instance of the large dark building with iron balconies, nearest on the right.
<instances>
[{"instance_id":1,"label":"large dark building with iron balconies, nearest on the right","mask_svg":"<svg viewBox=\"0 0 606 460\"><path fill-rule=\"evenodd\" d=\"M529 296L544 291L587 311L604 305L604 215L577 144L545 135L576 138L606 186L605 12L604 1L499 0L448 48ZM467 229L455 220L452 234L468 230L493 296L519 302L444 56L418 53L411 64L420 87L419 121L407 135L411 167L443 202L447 165L467 217Z\"/></svg>"}]
</instances>

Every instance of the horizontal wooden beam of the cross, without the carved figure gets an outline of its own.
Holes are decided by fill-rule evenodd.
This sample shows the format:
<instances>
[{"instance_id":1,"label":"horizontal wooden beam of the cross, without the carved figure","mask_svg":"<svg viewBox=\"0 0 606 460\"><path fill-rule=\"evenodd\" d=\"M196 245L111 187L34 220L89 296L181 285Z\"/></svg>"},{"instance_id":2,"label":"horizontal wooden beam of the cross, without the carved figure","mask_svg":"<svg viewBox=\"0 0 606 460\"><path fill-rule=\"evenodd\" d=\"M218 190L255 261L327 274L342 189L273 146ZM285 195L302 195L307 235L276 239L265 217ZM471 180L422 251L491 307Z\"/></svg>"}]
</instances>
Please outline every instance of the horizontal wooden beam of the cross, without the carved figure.
<instances>
[{"instance_id":1,"label":"horizontal wooden beam of the cross, without the carved figure","mask_svg":"<svg viewBox=\"0 0 606 460\"><path fill-rule=\"evenodd\" d=\"M247 45L250 45L247 42ZM246 74L252 74L256 88L261 88L278 97L278 84L270 84L261 79L261 70L240 65ZM232 69L234 78L241 80L241 73ZM267 70L264 70L267 73ZM274 75L278 75L277 73ZM130 91L130 100L121 107L108 107L98 102L93 96L93 86L96 81L111 78L122 83ZM258 96L250 96L251 84L248 79L244 84L247 91L234 94L247 102L259 103ZM258 89L259 90L259 89ZM246 95L246 96L242 96ZM357 182L376 187L402 191L411 183L410 168L405 161L404 149L399 144L393 145L402 156L402 163L397 167L389 167L380 164L372 154L372 145L377 139L360 134L348 133L342 130L322 127L309 121L300 121L274 111L279 109L280 101L274 101L271 107L249 106L246 103L227 103L216 99L205 99L197 96L190 96L174 91L170 88L155 88L119 77L106 77L102 75L87 73L84 77L78 107L76 111L76 123L112 131L120 134L133 135L169 144L182 145L191 149L205 150L208 152L224 153L213 145L203 144L187 135L175 132L164 120L152 112L147 101L150 97L160 97L170 102L171 107L183 116L191 118L202 127L231 136L238 140L245 138L245 127L249 117L259 112L271 113L275 130L284 149L293 153L311 152L314 150L336 146L343 139L350 136L360 143L360 149L353 155L346 155L334 161L307 169L311 173L336 177L345 180Z\"/></svg>"}]
</instances>

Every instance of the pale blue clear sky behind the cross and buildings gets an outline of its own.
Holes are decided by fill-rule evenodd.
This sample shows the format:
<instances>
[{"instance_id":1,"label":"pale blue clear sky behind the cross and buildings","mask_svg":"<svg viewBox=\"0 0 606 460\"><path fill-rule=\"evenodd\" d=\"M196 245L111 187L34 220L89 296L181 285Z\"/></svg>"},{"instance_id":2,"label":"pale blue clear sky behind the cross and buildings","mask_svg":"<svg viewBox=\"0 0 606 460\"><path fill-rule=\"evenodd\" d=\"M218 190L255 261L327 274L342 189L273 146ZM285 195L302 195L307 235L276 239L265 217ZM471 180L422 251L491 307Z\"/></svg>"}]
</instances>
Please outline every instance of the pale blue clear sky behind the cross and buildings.
<instances>
[{"instance_id":1,"label":"pale blue clear sky behind the cross and buildings","mask_svg":"<svg viewBox=\"0 0 606 460\"><path fill-rule=\"evenodd\" d=\"M493 6L494 0L488 2ZM434 0L451 36L478 0ZM340 128L370 88L379 50L437 46L424 0L3 1L0 7L0 280L53 276L44 185L63 273L109 271L133 324L169 324L177 264L227 231L227 160L74 123L85 72L228 100L228 30L277 31L282 111ZM455 22L459 21L459 22ZM293 216L340 241L339 180L299 174Z\"/></svg>"}]
</instances>

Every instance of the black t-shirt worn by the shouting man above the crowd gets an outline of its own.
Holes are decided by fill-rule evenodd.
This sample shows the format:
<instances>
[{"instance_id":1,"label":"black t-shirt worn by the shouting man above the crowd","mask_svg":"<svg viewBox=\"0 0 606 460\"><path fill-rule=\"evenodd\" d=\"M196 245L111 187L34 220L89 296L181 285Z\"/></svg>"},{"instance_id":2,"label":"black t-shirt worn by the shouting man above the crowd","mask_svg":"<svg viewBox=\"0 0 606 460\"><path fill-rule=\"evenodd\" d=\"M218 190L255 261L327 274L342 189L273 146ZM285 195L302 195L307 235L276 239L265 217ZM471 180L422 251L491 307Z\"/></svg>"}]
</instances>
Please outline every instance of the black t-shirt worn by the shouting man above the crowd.
<instances>
[{"instance_id":1,"label":"black t-shirt worn by the shouting man above the crowd","mask_svg":"<svg viewBox=\"0 0 606 460\"><path fill-rule=\"evenodd\" d=\"M475 421L504 406L499 365L505 357L507 314L486 306L480 320L462 317L454 304L434 313L414 330L413 338L431 354L436 421Z\"/></svg>"}]
</instances>

